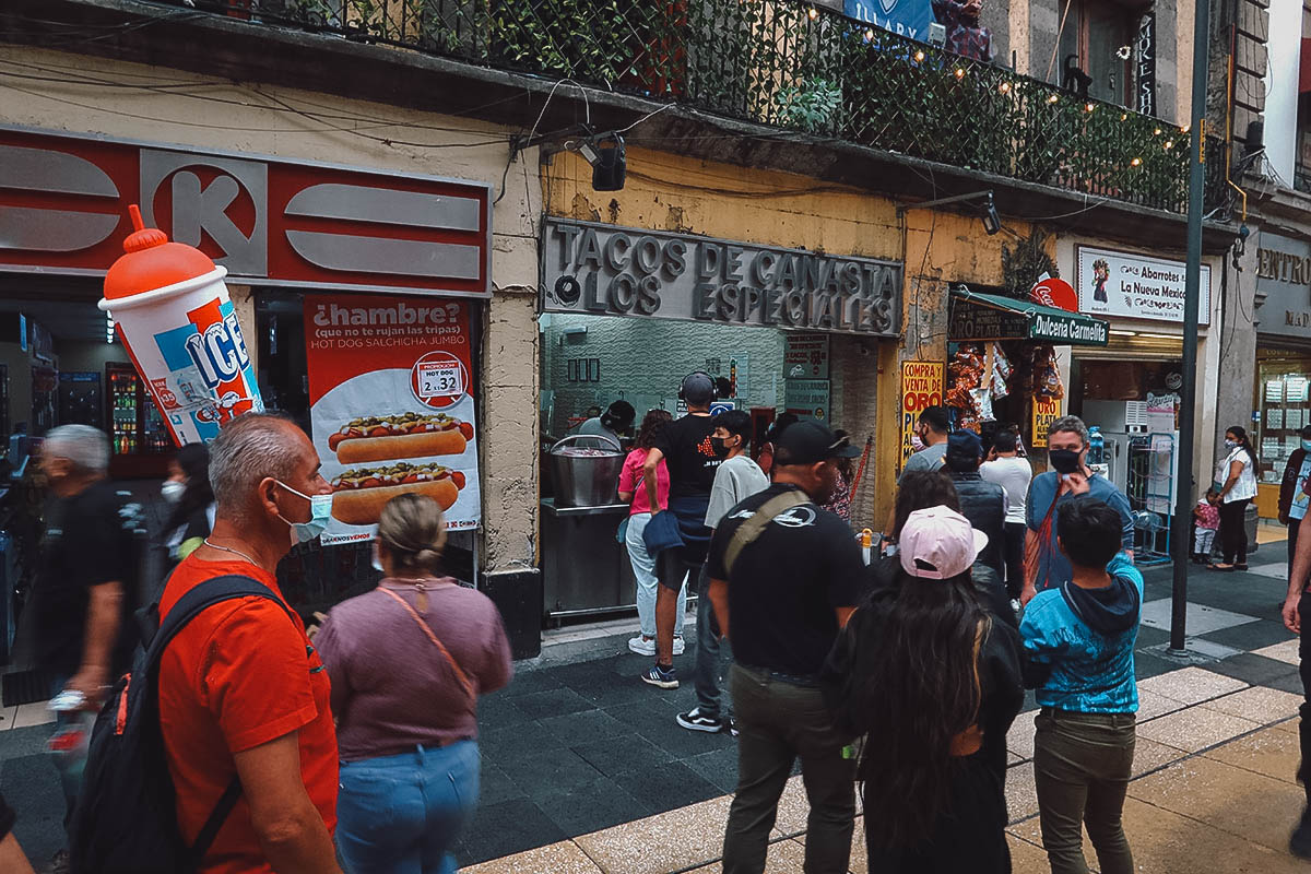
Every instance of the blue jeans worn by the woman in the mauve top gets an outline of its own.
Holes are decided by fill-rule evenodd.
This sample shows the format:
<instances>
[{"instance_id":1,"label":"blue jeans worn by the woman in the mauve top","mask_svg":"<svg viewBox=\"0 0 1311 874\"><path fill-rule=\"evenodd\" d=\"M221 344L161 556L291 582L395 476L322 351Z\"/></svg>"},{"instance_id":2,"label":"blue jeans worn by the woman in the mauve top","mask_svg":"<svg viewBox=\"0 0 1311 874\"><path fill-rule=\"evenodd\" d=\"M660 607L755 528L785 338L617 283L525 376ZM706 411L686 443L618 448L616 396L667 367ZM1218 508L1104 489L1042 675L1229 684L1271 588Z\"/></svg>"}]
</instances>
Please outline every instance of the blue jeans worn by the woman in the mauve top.
<instances>
[{"instance_id":1,"label":"blue jeans worn by the woman in the mauve top","mask_svg":"<svg viewBox=\"0 0 1311 874\"><path fill-rule=\"evenodd\" d=\"M450 853L479 805L479 744L341 767L337 849L349 874L455 874Z\"/></svg>"}]
</instances>

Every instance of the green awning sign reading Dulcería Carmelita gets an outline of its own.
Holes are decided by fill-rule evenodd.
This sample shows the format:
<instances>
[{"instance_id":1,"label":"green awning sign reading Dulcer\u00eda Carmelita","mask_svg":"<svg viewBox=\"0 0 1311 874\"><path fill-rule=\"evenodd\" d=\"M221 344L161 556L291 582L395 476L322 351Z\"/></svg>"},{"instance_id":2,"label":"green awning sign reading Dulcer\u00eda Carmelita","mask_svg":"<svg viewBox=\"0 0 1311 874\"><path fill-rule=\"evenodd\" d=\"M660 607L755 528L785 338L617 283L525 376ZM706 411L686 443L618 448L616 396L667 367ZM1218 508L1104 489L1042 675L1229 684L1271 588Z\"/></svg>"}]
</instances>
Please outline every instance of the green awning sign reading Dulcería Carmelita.
<instances>
[{"instance_id":1,"label":"green awning sign reading Dulcer\u00eda Carmelita","mask_svg":"<svg viewBox=\"0 0 1311 874\"><path fill-rule=\"evenodd\" d=\"M1036 339L1057 346L1105 346L1110 324L1029 300L952 290L949 339Z\"/></svg>"}]
</instances>

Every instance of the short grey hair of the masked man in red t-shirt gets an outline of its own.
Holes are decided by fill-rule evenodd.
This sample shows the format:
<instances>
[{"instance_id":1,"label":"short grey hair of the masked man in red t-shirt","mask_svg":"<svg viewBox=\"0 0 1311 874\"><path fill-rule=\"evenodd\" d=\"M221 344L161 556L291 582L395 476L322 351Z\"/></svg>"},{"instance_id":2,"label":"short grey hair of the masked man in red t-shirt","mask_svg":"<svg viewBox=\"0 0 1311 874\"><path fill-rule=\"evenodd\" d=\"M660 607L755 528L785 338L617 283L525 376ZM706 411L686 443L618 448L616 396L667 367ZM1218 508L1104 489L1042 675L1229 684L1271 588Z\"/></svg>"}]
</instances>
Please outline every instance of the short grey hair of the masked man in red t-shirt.
<instances>
[{"instance_id":1,"label":"short grey hair of the masked man in red t-shirt","mask_svg":"<svg viewBox=\"0 0 1311 874\"><path fill-rule=\"evenodd\" d=\"M295 422L275 413L246 413L219 431L210 444L210 486L219 512L244 510L265 477L291 478L300 453L287 439L287 425Z\"/></svg>"}]
</instances>

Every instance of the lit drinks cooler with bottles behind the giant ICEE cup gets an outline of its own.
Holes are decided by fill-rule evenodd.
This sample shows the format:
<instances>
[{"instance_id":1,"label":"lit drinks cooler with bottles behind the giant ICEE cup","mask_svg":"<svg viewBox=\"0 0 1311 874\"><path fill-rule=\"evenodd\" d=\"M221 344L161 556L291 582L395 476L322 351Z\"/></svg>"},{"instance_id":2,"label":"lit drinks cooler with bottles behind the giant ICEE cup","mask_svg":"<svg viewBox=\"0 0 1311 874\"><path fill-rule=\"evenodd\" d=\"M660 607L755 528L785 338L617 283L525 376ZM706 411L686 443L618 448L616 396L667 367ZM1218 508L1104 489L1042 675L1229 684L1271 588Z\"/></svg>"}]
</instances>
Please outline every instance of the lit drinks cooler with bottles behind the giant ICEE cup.
<instances>
[{"instance_id":1,"label":"lit drinks cooler with bottles behind the giant ICEE cup","mask_svg":"<svg viewBox=\"0 0 1311 874\"><path fill-rule=\"evenodd\" d=\"M109 473L115 480L156 480L168 473L173 438L131 364L105 366Z\"/></svg>"}]
</instances>

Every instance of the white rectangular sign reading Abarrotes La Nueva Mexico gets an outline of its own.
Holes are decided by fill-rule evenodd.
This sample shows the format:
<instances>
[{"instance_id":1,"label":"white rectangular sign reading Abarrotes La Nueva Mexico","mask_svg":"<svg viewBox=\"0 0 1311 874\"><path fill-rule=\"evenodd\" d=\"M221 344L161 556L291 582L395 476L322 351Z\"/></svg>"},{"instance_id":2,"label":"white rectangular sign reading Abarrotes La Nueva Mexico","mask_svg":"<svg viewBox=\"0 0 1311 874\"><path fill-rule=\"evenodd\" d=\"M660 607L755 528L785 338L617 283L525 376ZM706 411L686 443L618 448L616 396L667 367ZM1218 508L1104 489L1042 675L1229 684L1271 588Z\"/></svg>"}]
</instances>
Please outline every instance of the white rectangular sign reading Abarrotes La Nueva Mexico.
<instances>
[{"instance_id":1,"label":"white rectangular sign reading Abarrotes La Nueva Mexico","mask_svg":"<svg viewBox=\"0 0 1311 874\"><path fill-rule=\"evenodd\" d=\"M1079 311L1154 321L1184 321L1186 265L1127 252L1076 246ZM1198 324L1210 324L1211 269L1202 265Z\"/></svg>"}]
</instances>

